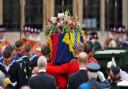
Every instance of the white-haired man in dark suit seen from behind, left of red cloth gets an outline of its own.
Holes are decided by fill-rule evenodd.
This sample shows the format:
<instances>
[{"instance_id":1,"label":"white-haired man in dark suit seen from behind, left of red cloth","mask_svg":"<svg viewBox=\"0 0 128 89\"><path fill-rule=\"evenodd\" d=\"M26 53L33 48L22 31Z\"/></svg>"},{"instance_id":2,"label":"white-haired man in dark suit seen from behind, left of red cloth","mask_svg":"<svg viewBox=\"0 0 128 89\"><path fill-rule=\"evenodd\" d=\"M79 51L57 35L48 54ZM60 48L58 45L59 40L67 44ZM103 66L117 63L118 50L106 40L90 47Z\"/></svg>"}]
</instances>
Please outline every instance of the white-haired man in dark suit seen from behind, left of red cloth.
<instances>
[{"instance_id":1,"label":"white-haired man in dark suit seen from behind, left of red cloth","mask_svg":"<svg viewBox=\"0 0 128 89\"><path fill-rule=\"evenodd\" d=\"M28 85L31 89L56 89L56 81L54 77L46 73L47 59L44 56L40 56L37 61L39 73L32 76Z\"/></svg>"}]
</instances>

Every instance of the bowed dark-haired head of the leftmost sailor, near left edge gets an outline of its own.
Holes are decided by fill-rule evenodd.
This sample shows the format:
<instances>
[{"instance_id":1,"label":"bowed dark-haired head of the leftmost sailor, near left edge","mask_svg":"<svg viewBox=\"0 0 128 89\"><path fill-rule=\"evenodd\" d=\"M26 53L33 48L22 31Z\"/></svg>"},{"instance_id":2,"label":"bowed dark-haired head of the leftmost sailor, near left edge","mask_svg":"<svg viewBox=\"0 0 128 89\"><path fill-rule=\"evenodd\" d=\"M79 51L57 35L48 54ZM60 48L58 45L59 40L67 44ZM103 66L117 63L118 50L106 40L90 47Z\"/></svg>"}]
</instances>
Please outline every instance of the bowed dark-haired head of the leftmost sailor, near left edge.
<instances>
[{"instance_id":1,"label":"bowed dark-haired head of the leftmost sailor, near left edge","mask_svg":"<svg viewBox=\"0 0 128 89\"><path fill-rule=\"evenodd\" d=\"M5 65L9 65L11 62L12 51L6 48L3 52L3 62Z\"/></svg>"}]
</instances>

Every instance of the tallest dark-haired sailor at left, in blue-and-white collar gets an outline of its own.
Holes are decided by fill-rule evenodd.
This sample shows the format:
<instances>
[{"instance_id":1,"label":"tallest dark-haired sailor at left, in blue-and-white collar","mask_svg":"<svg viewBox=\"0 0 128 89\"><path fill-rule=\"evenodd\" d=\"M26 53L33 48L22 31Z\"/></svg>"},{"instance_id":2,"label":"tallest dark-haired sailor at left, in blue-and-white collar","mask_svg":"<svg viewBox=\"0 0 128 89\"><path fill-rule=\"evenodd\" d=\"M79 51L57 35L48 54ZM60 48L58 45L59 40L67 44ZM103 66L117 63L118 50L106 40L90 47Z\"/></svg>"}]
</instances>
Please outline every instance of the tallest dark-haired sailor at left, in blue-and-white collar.
<instances>
[{"instance_id":1,"label":"tallest dark-haired sailor at left, in blue-and-white collar","mask_svg":"<svg viewBox=\"0 0 128 89\"><path fill-rule=\"evenodd\" d=\"M30 78L31 76L31 64L30 64L30 61L29 61L29 57L25 55L25 47L24 47L24 44L21 40L18 40L15 42L15 49L16 49L16 52L17 52L17 56L16 56L16 62L20 64L20 76L21 77L21 83L22 86L23 85L26 85L28 84L28 79ZM29 50L29 49L27 49ZM29 53L28 53L29 54ZM21 86L19 86L21 87Z\"/></svg>"}]
</instances>

